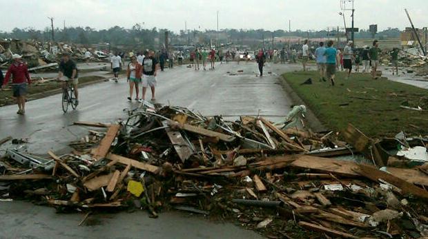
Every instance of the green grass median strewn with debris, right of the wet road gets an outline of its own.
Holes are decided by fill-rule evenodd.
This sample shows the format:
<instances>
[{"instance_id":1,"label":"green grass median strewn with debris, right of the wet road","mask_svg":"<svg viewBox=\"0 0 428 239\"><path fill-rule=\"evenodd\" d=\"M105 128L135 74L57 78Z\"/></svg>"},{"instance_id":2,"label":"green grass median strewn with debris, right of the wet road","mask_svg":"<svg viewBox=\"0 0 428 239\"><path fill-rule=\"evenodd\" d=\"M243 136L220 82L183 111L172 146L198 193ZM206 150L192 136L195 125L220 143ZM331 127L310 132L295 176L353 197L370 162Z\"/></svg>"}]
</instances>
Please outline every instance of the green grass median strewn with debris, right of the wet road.
<instances>
[{"instance_id":1,"label":"green grass median strewn with debris, right of the wet road","mask_svg":"<svg viewBox=\"0 0 428 239\"><path fill-rule=\"evenodd\" d=\"M338 72L335 86L320 82L315 71L282 76L329 129L342 131L352 123L371 137L394 136L400 131L428 134L428 90L385 78L373 80L369 74L351 74L345 80L344 72ZM311 85L301 85L309 78ZM419 105L424 111L403 109L401 105Z\"/></svg>"}]
</instances>

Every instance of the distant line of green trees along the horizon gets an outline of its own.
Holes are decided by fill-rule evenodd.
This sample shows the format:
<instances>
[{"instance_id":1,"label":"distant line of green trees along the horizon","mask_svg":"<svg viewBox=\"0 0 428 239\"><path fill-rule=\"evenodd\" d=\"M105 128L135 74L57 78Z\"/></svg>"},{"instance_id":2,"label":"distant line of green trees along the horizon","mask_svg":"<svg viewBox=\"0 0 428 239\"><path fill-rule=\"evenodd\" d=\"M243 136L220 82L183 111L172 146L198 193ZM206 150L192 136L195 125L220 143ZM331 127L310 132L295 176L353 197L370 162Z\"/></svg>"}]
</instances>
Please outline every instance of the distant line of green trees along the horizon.
<instances>
[{"instance_id":1,"label":"distant line of green trees along the horizon","mask_svg":"<svg viewBox=\"0 0 428 239\"><path fill-rule=\"evenodd\" d=\"M165 32L167 29L144 29L142 25L135 24L133 28L126 29L119 26L114 26L108 30L95 30L90 27L82 28L64 28L55 29L55 41L62 41L67 43L79 43L84 45L95 43L110 43L111 45L144 45L146 48L158 48L159 45L164 43ZM302 31L295 30L294 32L286 32L284 30L268 31L263 29L257 30L236 30L225 29L221 31L226 34L226 41L236 41L237 39L271 39L272 37L301 37L302 39L331 37L335 34L334 30L319 30L319 31ZM186 44L193 42L195 36L203 36L203 41L209 41L208 36L216 34L214 30L189 30L186 34L183 30L178 34L169 32L171 43L173 44ZM360 30L356 32L356 39L369 39L371 33L369 30ZM398 28L388 28L376 34L380 39L393 39L400 37L400 30ZM12 32L0 32L1 39L34 39L37 41L50 41L51 32L49 28L44 30L35 30L34 28L14 28ZM192 39L192 41L189 41Z\"/></svg>"}]
</instances>

